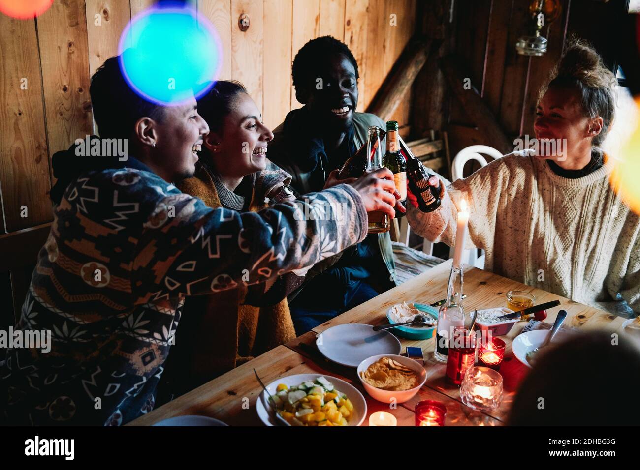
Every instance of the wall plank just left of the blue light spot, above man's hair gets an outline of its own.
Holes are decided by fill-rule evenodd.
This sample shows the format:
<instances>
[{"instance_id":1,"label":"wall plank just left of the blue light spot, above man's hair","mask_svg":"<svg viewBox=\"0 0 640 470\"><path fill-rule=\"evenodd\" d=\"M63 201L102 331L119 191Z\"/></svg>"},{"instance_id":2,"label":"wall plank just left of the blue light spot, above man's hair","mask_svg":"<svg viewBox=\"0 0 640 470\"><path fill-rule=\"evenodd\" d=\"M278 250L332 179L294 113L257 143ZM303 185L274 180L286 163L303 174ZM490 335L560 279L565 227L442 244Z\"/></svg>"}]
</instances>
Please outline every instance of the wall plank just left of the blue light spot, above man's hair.
<instances>
[{"instance_id":1,"label":"wall plank just left of the blue light spot, above man's hair","mask_svg":"<svg viewBox=\"0 0 640 470\"><path fill-rule=\"evenodd\" d=\"M106 59L118 54L120 35L130 20L128 0L86 0L90 75L95 74Z\"/></svg>"}]
</instances>

